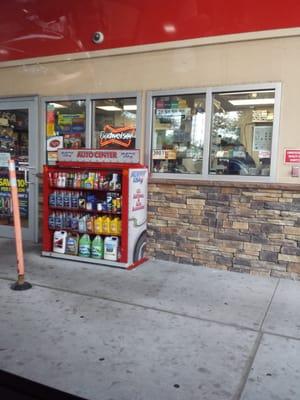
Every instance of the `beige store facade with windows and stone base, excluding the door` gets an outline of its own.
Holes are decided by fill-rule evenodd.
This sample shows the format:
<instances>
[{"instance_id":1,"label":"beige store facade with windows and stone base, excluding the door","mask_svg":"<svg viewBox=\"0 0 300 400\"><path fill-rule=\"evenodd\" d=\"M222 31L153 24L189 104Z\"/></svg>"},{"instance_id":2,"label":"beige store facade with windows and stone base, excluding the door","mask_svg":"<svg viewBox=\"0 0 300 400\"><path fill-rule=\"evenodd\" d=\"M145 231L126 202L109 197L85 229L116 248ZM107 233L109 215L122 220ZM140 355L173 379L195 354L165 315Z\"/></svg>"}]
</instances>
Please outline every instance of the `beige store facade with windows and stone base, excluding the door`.
<instances>
[{"instance_id":1,"label":"beige store facade with windows and stone base, excluding the door","mask_svg":"<svg viewBox=\"0 0 300 400\"><path fill-rule=\"evenodd\" d=\"M0 82L6 98L39 96L39 170L56 148L114 134L141 149L149 256L299 278L298 162L284 159L300 148L298 35L39 60L3 66Z\"/></svg>"}]
</instances>

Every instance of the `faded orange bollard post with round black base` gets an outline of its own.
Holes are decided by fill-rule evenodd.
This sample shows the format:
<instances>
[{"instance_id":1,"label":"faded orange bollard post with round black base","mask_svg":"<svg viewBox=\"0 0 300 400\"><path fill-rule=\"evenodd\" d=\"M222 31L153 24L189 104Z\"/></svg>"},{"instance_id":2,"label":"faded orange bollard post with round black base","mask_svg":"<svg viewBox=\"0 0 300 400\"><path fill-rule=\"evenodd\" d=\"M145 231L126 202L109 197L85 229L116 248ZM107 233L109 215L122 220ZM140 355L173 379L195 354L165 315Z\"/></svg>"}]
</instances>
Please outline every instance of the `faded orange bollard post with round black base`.
<instances>
[{"instance_id":1,"label":"faded orange bollard post with round black base","mask_svg":"<svg viewBox=\"0 0 300 400\"><path fill-rule=\"evenodd\" d=\"M21 229L21 218L20 218L20 209L19 209L19 198L18 198L15 160L10 159L8 161L8 171L9 171L11 199L12 199L13 215L14 215L17 268L18 268L18 280L17 280L17 282L15 282L11 285L11 289L26 290L26 289L30 289L32 286L29 282L25 282L25 266L24 266L24 254L23 254L23 242L22 242L22 229Z\"/></svg>"}]
</instances>

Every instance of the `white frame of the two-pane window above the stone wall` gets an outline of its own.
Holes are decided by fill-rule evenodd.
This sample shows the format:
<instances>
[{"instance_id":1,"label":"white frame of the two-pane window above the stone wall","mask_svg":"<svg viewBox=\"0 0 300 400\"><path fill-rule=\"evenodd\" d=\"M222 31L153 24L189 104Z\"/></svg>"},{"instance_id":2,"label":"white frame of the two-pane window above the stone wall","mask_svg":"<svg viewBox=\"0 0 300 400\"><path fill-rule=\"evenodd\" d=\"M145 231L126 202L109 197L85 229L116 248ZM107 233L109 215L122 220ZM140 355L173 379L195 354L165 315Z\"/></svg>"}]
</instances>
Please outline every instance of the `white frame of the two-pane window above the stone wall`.
<instances>
[{"instance_id":1,"label":"white frame of the two-pane window above the stone wall","mask_svg":"<svg viewBox=\"0 0 300 400\"><path fill-rule=\"evenodd\" d=\"M241 92L255 90L274 90L274 119L272 130L272 147L271 147L271 164L269 176L255 175L213 175L209 173L209 151L210 151L210 135L213 118L213 94L222 92ZM203 145L203 161L202 174L179 174L179 173L161 173L152 172L152 128L153 128L153 99L157 96L173 96L173 95L189 95L203 94L205 95L205 134ZM199 180L199 181L232 181L232 182L265 182L271 183L276 181L276 168L278 162L278 141L279 141L279 122L280 122L280 105L281 105L281 83L250 83L241 85L226 85L198 88L183 88L175 90L153 90L147 92L147 119L146 119L146 147L145 159L147 160L149 171L152 178L162 180Z\"/></svg>"}]
</instances>

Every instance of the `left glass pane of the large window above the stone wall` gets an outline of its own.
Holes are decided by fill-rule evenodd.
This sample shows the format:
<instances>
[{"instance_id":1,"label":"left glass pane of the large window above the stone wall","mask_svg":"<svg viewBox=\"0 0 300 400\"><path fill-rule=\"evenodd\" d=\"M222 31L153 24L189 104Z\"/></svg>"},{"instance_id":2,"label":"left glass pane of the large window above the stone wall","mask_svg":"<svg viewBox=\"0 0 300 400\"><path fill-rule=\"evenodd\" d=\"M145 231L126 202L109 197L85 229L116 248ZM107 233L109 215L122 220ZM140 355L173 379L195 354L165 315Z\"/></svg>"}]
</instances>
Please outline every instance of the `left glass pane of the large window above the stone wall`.
<instances>
[{"instance_id":1,"label":"left glass pane of the large window above the stone wall","mask_svg":"<svg viewBox=\"0 0 300 400\"><path fill-rule=\"evenodd\" d=\"M153 97L151 170L202 173L205 95Z\"/></svg>"}]
</instances>

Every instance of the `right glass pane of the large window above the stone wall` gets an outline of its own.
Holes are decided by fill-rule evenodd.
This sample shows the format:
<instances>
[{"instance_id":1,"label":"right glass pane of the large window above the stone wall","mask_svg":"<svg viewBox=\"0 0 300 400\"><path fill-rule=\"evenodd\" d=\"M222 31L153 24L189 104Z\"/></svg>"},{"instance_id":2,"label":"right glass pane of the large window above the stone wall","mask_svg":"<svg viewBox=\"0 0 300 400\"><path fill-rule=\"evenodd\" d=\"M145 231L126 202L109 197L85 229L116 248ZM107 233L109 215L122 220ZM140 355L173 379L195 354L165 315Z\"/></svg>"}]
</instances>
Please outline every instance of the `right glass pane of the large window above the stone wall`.
<instances>
[{"instance_id":1,"label":"right glass pane of the large window above the stone wall","mask_svg":"<svg viewBox=\"0 0 300 400\"><path fill-rule=\"evenodd\" d=\"M270 176L275 90L213 94L209 173Z\"/></svg>"}]
</instances>

